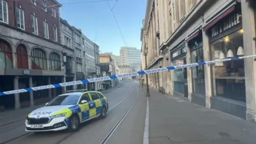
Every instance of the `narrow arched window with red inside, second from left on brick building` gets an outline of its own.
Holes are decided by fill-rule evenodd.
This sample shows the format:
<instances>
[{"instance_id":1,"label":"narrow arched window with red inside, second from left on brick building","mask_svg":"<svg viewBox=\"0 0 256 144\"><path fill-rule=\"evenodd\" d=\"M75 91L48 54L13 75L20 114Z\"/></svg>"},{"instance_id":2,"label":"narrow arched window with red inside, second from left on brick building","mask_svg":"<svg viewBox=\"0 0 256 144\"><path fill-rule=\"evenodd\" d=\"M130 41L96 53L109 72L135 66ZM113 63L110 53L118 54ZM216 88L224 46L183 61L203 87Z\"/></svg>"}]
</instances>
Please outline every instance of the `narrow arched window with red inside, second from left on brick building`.
<instances>
[{"instance_id":1,"label":"narrow arched window with red inside, second from left on brick building","mask_svg":"<svg viewBox=\"0 0 256 144\"><path fill-rule=\"evenodd\" d=\"M17 67L28 69L28 53L22 44L17 46Z\"/></svg>"}]
</instances>

